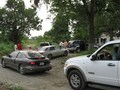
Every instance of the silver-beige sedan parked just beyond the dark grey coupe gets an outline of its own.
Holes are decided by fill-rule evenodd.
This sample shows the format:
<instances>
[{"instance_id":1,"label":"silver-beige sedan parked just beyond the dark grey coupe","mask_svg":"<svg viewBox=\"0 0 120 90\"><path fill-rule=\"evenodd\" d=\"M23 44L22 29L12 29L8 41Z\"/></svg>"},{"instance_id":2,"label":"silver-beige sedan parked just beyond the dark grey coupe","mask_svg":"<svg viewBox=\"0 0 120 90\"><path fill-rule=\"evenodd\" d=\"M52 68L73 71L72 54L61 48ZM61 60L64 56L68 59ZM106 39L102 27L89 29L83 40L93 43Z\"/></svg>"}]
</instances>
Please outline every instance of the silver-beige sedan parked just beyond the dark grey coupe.
<instances>
[{"instance_id":1,"label":"silver-beige sedan parked just beyond the dark grey coupe","mask_svg":"<svg viewBox=\"0 0 120 90\"><path fill-rule=\"evenodd\" d=\"M48 57L49 59L52 59L53 57L57 56L67 56L68 50L67 49L60 49L60 47L57 46L44 46L39 50L40 54L42 54L45 57Z\"/></svg>"}]
</instances>

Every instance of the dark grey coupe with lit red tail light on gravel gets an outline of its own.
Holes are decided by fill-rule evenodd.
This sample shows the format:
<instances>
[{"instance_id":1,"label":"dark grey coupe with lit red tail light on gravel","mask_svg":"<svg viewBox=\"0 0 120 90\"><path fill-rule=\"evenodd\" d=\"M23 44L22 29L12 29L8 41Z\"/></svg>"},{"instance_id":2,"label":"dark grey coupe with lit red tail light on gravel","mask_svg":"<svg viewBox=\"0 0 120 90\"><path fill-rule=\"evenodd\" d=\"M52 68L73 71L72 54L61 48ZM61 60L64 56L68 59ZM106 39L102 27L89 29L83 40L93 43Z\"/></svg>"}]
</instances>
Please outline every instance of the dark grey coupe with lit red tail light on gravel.
<instances>
[{"instance_id":1,"label":"dark grey coupe with lit red tail light on gravel","mask_svg":"<svg viewBox=\"0 0 120 90\"><path fill-rule=\"evenodd\" d=\"M13 51L9 55L3 56L2 67L10 67L21 74L37 71L49 71L52 69L50 60L41 55L38 51Z\"/></svg>"}]
</instances>

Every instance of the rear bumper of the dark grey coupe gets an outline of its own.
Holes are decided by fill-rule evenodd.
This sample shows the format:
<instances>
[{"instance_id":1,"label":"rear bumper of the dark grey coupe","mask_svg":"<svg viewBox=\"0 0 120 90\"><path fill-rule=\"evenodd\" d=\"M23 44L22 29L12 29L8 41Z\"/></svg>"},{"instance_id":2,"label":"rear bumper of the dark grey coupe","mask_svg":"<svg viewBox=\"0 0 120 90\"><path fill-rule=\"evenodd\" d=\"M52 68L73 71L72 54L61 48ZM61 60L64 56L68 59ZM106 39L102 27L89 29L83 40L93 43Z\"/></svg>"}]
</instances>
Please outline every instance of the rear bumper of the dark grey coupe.
<instances>
[{"instance_id":1,"label":"rear bumper of the dark grey coupe","mask_svg":"<svg viewBox=\"0 0 120 90\"><path fill-rule=\"evenodd\" d=\"M24 70L26 73L30 72L39 72L39 71L49 71L52 69L51 65L45 65L45 66L25 66Z\"/></svg>"}]
</instances>

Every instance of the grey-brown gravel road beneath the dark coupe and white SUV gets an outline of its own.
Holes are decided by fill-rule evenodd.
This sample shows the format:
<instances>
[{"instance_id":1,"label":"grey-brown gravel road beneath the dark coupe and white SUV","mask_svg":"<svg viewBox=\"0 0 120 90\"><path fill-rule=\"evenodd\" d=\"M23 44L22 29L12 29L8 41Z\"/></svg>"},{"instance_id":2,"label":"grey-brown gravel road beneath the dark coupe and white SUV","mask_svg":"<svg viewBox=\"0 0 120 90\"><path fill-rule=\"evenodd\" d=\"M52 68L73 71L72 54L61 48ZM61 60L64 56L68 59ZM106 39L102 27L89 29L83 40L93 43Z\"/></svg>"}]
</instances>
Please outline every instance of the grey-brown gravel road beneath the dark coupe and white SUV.
<instances>
[{"instance_id":1,"label":"grey-brown gravel road beneath the dark coupe and white SUV","mask_svg":"<svg viewBox=\"0 0 120 90\"><path fill-rule=\"evenodd\" d=\"M67 57L74 55L69 54ZM51 64L53 68L50 71L27 75L21 75L10 68L2 68L0 64L0 82L9 85L19 85L25 88L25 90L72 90L63 74L63 64L61 62L64 58L66 57L52 59ZM96 89L86 88L86 90Z\"/></svg>"}]
</instances>

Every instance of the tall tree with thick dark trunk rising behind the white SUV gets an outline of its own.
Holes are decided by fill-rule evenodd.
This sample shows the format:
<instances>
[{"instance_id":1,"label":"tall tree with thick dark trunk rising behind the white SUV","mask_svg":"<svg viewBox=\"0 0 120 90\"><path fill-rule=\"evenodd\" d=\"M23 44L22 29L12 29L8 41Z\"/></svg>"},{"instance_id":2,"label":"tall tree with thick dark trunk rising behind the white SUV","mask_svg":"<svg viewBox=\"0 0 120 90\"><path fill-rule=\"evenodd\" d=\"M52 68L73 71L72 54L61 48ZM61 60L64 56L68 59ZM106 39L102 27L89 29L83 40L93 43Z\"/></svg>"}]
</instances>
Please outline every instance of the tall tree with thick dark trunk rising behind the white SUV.
<instances>
[{"instance_id":1,"label":"tall tree with thick dark trunk rising behind the white SUV","mask_svg":"<svg viewBox=\"0 0 120 90\"><path fill-rule=\"evenodd\" d=\"M36 2L36 0L34 1ZM42 1L47 1L47 2L50 1L51 7L53 8L54 12L58 13L59 11L62 11L64 14L67 15L69 14L69 19L75 21L76 24L81 22L81 19L75 18L75 16L77 17L81 17L83 15L86 16L88 23L86 27L88 28L89 50L92 50L94 48L93 46L94 46L94 38L95 38L95 30L94 30L95 18L97 18L96 15L100 12L102 13L102 15L104 15L105 13L108 14L109 12L112 11L119 12L119 10L115 9L115 6L119 7L120 4L120 1L116 1L116 0L42 0ZM37 0L37 3L38 2L39 0ZM113 23L111 24L109 23L109 25L112 24Z\"/></svg>"}]
</instances>

